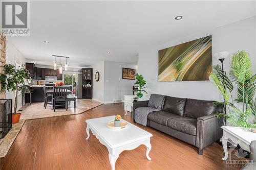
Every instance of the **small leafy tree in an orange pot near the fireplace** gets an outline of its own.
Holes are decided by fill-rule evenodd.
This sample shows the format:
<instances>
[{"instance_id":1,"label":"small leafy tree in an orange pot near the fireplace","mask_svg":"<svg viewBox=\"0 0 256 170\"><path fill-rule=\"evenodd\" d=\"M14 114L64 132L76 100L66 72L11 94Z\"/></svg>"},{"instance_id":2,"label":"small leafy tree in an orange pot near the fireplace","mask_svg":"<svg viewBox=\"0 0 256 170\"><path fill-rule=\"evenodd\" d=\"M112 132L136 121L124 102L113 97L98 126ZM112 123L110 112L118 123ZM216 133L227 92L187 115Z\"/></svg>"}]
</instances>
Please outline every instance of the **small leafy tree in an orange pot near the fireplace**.
<instances>
[{"instance_id":1,"label":"small leafy tree in an orange pot near the fireplace","mask_svg":"<svg viewBox=\"0 0 256 170\"><path fill-rule=\"evenodd\" d=\"M1 91L8 90L14 91L14 111L12 114L12 123L18 123L20 118L20 113L17 112L17 103L18 103L18 91L24 91L27 87L25 86L25 80L31 79L29 71L20 66L18 69L15 69L13 64L4 65L5 72L0 75L1 81Z\"/></svg>"}]
</instances>

